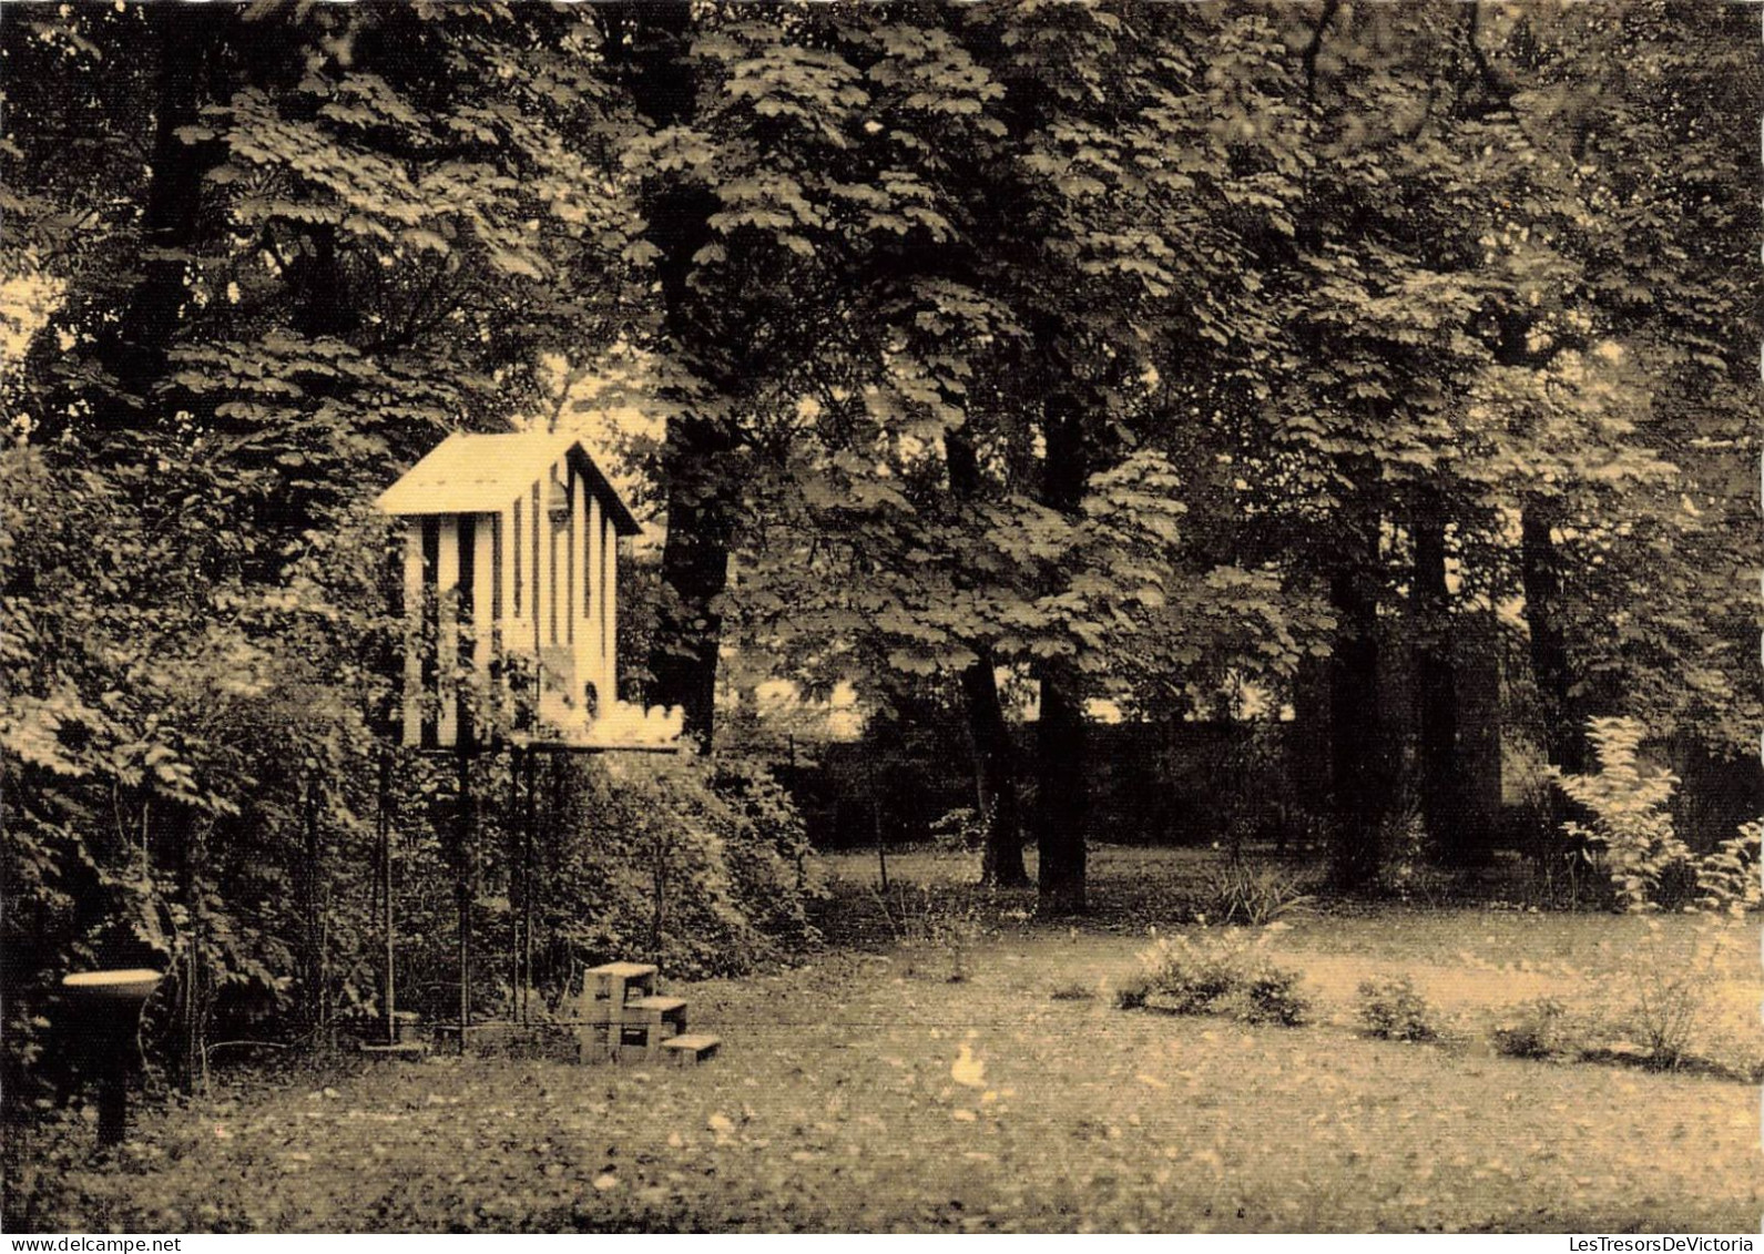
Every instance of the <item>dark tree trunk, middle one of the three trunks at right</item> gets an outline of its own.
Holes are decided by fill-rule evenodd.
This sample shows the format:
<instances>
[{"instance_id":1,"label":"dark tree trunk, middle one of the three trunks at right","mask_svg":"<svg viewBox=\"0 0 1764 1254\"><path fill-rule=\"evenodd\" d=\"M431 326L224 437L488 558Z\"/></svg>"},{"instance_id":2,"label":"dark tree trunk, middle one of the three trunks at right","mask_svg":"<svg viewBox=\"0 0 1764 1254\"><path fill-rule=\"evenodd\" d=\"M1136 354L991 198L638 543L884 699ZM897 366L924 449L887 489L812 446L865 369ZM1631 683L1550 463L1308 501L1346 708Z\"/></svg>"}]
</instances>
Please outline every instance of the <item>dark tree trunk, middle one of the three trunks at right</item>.
<instances>
[{"instance_id":1,"label":"dark tree trunk, middle one of the three trunks at right","mask_svg":"<svg viewBox=\"0 0 1764 1254\"><path fill-rule=\"evenodd\" d=\"M1411 524L1415 714L1418 727L1422 820L1434 854L1454 866L1487 859L1475 817L1466 811L1459 760L1459 709L1452 594L1446 587L1445 515L1427 494Z\"/></svg>"}]
</instances>

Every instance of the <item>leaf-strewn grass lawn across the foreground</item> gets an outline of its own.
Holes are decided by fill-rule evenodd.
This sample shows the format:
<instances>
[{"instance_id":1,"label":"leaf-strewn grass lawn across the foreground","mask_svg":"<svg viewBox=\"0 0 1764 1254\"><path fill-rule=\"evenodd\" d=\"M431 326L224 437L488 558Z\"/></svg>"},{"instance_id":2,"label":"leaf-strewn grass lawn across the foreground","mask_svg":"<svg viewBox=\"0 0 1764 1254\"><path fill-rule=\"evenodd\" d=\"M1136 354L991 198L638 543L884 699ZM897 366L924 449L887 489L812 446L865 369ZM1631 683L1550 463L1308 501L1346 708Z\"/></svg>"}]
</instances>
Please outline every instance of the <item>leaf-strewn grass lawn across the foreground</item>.
<instances>
[{"instance_id":1,"label":"leaf-strewn grass lawn across the foreground","mask_svg":"<svg viewBox=\"0 0 1764 1254\"><path fill-rule=\"evenodd\" d=\"M1189 854L1101 850L1099 896L1154 894ZM947 859L891 859L944 884ZM1547 991L1611 993L1646 924L1369 910L1309 919L1279 958L1304 1028L1064 996L1131 970L1138 935L1037 926L857 947L870 861L833 859L850 942L799 970L683 986L723 1055L697 1071L520 1058L231 1072L145 1111L108 1161L90 1129L16 1146L9 1231L896 1229L1752 1231L1757 1090L1632 1067L1367 1041L1355 984L1409 972L1466 1039ZM1171 889L1173 891L1173 889ZM880 910L877 908L880 915ZM1175 919L1175 912L1171 919ZM1678 924L1681 921L1669 921ZM1117 924L1120 926L1120 924ZM1168 926L1168 924L1166 924ZM1750 929L1755 952L1757 931ZM967 979L951 982L960 965ZM1736 1011L1738 1007L1738 1011ZM1738 1018L1736 1018L1738 1014ZM1723 1030L1757 1035L1729 972Z\"/></svg>"}]
</instances>

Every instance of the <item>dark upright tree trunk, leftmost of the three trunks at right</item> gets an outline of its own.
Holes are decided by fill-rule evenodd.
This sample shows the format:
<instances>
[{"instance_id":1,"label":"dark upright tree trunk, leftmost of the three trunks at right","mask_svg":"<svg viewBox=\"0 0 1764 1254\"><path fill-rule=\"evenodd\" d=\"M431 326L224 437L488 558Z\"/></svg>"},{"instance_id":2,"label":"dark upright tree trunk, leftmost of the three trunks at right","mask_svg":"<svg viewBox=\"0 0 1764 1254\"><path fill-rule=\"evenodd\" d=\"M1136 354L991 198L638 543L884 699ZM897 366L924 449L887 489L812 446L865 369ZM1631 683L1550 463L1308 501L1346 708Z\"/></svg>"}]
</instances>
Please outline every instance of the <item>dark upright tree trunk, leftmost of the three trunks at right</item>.
<instances>
[{"instance_id":1,"label":"dark upright tree trunk, leftmost of the three trunks at right","mask_svg":"<svg viewBox=\"0 0 1764 1254\"><path fill-rule=\"evenodd\" d=\"M1330 658L1330 776L1334 832L1330 873L1339 887L1371 884L1383 870L1383 825L1390 810L1385 730L1379 711L1378 515L1362 524L1358 561L1330 575L1339 619Z\"/></svg>"}]
</instances>

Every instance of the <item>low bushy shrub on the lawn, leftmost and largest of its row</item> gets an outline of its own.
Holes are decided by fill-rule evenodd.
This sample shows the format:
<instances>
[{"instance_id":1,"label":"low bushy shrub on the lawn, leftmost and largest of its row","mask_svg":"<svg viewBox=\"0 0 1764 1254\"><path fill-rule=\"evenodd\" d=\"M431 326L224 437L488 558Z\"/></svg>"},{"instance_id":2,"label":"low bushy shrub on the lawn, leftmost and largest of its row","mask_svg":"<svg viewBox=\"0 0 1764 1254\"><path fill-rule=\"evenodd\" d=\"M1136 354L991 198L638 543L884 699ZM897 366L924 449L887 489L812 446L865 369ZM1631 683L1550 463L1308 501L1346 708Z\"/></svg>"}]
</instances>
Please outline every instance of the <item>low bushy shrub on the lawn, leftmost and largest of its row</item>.
<instances>
[{"instance_id":1,"label":"low bushy shrub on the lawn, leftmost and largest of its row","mask_svg":"<svg viewBox=\"0 0 1764 1254\"><path fill-rule=\"evenodd\" d=\"M1295 1026L1309 1009L1298 993L1300 975L1277 967L1265 942L1267 933L1249 942L1235 929L1222 938L1159 937L1140 954L1140 970L1117 986L1115 1005Z\"/></svg>"}]
</instances>

